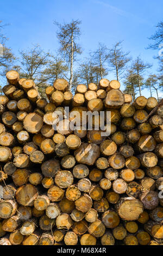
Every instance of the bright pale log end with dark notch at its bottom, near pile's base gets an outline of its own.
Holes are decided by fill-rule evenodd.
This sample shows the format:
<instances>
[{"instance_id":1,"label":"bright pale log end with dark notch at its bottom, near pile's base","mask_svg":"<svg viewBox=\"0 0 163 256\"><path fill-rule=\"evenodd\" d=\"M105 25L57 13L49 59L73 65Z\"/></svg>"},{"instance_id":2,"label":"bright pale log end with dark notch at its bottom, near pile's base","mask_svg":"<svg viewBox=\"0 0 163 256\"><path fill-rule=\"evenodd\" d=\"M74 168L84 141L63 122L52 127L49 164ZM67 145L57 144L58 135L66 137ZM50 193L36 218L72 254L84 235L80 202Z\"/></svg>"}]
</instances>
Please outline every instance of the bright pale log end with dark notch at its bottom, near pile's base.
<instances>
[{"instance_id":1,"label":"bright pale log end with dark notch at its bottom, near pile's base","mask_svg":"<svg viewBox=\"0 0 163 256\"><path fill-rule=\"evenodd\" d=\"M56 219L56 225L59 230L68 230L72 227L73 221L68 214L60 214Z\"/></svg>"}]
</instances>

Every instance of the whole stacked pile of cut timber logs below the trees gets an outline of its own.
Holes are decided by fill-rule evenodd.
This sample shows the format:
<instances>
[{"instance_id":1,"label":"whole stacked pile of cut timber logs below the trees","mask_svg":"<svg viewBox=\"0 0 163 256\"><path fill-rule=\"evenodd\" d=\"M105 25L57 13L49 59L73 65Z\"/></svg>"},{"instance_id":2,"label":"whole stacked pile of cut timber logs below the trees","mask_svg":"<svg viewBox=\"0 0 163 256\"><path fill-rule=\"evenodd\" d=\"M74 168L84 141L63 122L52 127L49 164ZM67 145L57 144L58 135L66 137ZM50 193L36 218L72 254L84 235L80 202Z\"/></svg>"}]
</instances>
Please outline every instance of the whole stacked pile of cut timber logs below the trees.
<instances>
[{"instance_id":1,"label":"whole stacked pile of cut timber logs below the trees","mask_svg":"<svg viewBox=\"0 0 163 256\"><path fill-rule=\"evenodd\" d=\"M46 88L6 74L0 96L0 245L161 245L163 106L116 80ZM110 111L111 134L53 129L54 111ZM106 119L106 117L105 117ZM106 121L106 120L105 120ZM93 127L97 120L93 119Z\"/></svg>"}]
</instances>

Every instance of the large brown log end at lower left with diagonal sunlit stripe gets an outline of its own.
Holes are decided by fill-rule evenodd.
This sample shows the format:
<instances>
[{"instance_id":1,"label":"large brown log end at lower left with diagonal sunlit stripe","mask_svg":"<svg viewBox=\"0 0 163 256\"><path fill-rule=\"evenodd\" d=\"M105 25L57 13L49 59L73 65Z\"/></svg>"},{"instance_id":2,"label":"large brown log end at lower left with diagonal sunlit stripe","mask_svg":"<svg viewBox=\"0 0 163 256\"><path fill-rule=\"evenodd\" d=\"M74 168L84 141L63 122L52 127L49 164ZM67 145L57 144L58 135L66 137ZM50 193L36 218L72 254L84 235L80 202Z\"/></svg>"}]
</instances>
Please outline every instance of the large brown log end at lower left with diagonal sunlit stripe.
<instances>
[{"instance_id":1,"label":"large brown log end at lower left with diagonal sunlit stripe","mask_svg":"<svg viewBox=\"0 0 163 256\"><path fill-rule=\"evenodd\" d=\"M37 198L37 188L32 184L26 184L19 187L16 191L16 200L18 204L23 206L33 206L34 200Z\"/></svg>"}]
</instances>

